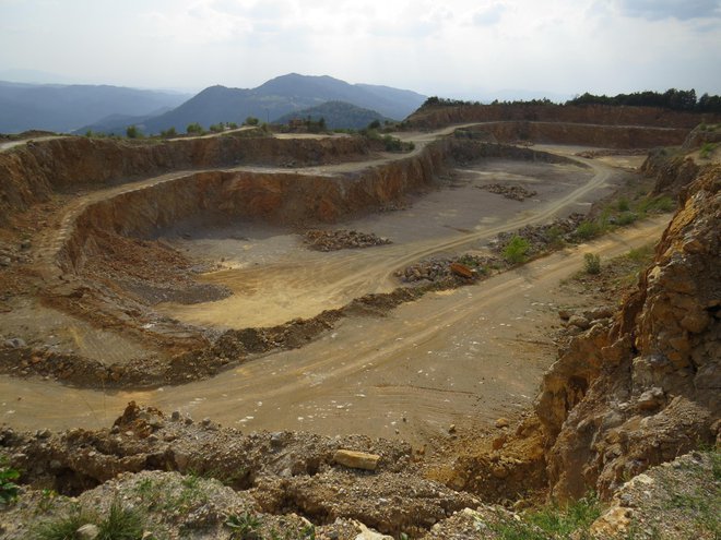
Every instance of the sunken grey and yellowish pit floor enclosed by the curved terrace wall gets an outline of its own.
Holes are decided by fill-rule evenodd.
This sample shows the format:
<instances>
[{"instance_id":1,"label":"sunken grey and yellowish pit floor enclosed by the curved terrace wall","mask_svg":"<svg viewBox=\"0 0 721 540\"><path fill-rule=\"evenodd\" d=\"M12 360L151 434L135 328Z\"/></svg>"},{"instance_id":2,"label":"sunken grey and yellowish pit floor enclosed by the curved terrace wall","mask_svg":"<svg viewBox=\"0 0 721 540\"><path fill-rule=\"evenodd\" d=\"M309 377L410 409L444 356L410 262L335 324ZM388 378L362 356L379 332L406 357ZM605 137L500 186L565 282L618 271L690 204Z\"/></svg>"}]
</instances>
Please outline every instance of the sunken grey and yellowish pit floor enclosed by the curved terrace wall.
<instances>
[{"instance_id":1,"label":"sunken grey and yellowish pit floor enclosed by the curved terrace wall","mask_svg":"<svg viewBox=\"0 0 721 540\"><path fill-rule=\"evenodd\" d=\"M240 224L212 230L179 226L176 236L166 241L191 257L221 266L223 269L200 280L224 285L233 296L198 304L163 303L157 310L185 323L225 328L272 326L312 317L354 298L392 290L399 285L393 276L397 269L417 257L457 252L457 242L464 236L470 240L464 251L482 248L488 239L480 238L484 230L503 226L513 217L532 216L591 175L572 164L498 159L457 169L452 180L440 189L410 197L405 209L336 226L373 232L393 242L364 250L312 252L298 235L265 225ZM494 182L527 185L536 195L519 202L477 189ZM578 211L579 203L559 208L558 215Z\"/></svg>"}]
</instances>

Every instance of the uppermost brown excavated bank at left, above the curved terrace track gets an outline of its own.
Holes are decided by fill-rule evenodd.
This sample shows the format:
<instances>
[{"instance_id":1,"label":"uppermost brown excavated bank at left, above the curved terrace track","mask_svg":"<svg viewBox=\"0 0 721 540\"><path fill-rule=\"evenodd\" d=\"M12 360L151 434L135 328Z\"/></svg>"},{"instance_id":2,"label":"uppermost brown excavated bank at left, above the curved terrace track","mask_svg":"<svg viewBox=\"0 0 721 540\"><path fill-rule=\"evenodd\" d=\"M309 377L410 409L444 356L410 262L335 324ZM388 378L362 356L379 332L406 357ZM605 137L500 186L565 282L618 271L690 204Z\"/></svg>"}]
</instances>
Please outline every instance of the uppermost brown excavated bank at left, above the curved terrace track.
<instances>
[{"instance_id":1,"label":"uppermost brown excavated bank at left, above the curved terrace track","mask_svg":"<svg viewBox=\"0 0 721 540\"><path fill-rule=\"evenodd\" d=\"M282 140L216 136L161 143L60 137L28 142L0 153L0 224L54 192L113 184L172 170L238 165L308 166L361 159L370 152L363 137Z\"/></svg>"}]
</instances>

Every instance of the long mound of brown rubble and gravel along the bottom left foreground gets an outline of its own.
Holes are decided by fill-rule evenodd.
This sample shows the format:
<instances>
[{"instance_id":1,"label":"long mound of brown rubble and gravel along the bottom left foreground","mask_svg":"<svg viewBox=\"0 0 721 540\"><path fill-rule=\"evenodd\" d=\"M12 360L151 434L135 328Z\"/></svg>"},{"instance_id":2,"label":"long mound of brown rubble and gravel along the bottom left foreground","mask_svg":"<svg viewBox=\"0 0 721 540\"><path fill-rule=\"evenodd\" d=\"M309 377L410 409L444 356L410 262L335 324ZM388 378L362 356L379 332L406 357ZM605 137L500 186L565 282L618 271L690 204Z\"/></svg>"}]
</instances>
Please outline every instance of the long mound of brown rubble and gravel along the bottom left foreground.
<instances>
[{"instance_id":1,"label":"long mound of brown rubble and gravel along the bottom left foreground","mask_svg":"<svg viewBox=\"0 0 721 540\"><path fill-rule=\"evenodd\" d=\"M318 538L356 538L357 531L339 536L334 530L334 524L348 520L397 538L401 532L416 538L453 513L480 504L468 493L423 478L404 442L289 431L243 434L210 419L196 422L177 411L166 416L135 404L128 406L111 429L57 434L0 429L0 449L11 456L12 467L23 470L24 483L58 491L62 495L57 496L58 503L69 501L66 495L80 495L98 507L98 501L104 504L121 493L127 495L123 501L153 512L149 525L155 525L154 529L217 528L206 538L227 538L223 516L245 513L276 526L279 519L297 515L328 524L324 529L319 527ZM340 465L342 455L359 458L366 469L373 464L373 470ZM193 493L185 493L184 485ZM168 496L178 501L165 504ZM17 506L24 506L26 515L22 508L12 517L3 515L3 525L17 526L3 538L28 538L27 529L20 526L37 520L28 519L36 507Z\"/></svg>"}]
</instances>

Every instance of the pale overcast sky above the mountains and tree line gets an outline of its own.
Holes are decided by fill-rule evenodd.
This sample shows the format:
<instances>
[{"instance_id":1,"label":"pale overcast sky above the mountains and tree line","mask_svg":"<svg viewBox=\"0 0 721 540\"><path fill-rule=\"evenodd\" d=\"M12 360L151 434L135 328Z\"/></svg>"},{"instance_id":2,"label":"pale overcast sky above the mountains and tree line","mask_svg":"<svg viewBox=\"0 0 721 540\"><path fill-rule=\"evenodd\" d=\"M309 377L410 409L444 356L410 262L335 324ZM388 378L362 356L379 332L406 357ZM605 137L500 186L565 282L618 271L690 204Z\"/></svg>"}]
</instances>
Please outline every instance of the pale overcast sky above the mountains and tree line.
<instances>
[{"instance_id":1,"label":"pale overcast sky above the mountains and tree line","mask_svg":"<svg viewBox=\"0 0 721 540\"><path fill-rule=\"evenodd\" d=\"M721 94L721 0L0 0L0 72L198 91L296 72L478 97Z\"/></svg>"}]
</instances>

